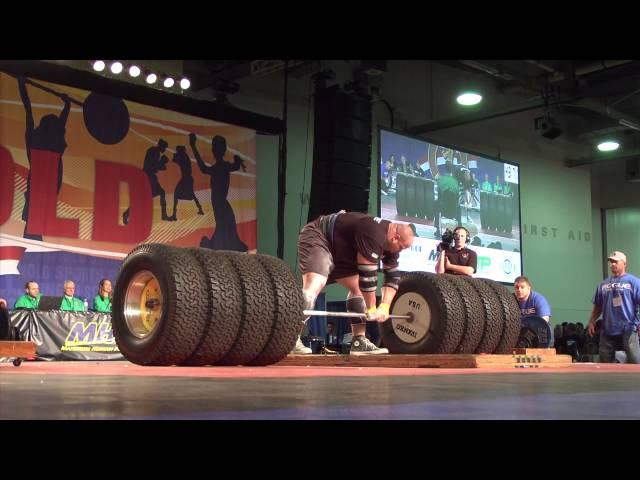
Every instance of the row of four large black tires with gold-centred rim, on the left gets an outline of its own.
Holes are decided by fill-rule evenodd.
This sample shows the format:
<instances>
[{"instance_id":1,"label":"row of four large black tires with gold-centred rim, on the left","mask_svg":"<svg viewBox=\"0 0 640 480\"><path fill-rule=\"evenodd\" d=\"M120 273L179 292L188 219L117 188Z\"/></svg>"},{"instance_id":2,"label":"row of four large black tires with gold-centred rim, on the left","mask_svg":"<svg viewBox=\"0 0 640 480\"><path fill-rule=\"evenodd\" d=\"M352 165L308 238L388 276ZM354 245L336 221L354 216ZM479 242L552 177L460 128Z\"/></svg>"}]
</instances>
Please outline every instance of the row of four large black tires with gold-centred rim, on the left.
<instances>
[{"instance_id":1,"label":"row of four large black tires with gold-centred rim, on the left","mask_svg":"<svg viewBox=\"0 0 640 480\"><path fill-rule=\"evenodd\" d=\"M140 365L269 365L291 351L303 309L278 258L144 244L123 261L112 325Z\"/></svg>"}]
</instances>

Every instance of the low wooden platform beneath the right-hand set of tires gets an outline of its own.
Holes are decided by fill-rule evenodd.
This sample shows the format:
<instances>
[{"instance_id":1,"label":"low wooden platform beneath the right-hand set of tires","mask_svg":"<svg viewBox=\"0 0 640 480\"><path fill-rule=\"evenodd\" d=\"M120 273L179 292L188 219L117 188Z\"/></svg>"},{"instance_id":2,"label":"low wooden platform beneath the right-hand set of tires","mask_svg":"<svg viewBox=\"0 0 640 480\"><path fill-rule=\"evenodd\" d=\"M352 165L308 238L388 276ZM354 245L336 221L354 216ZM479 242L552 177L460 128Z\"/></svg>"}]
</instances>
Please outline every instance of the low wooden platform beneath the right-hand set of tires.
<instances>
[{"instance_id":1,"label":"low wooden platform beneath the right-hand set of tires","mask_svg":"<svg viewBox=\"0 0 640 480\"><path fill-rule=\"evenodd\" d=\"M385 368L549 368L571 365L570 355L553 348L515 349L513 354L289 355L278 366Z\"/></svg>"}]
</instances>

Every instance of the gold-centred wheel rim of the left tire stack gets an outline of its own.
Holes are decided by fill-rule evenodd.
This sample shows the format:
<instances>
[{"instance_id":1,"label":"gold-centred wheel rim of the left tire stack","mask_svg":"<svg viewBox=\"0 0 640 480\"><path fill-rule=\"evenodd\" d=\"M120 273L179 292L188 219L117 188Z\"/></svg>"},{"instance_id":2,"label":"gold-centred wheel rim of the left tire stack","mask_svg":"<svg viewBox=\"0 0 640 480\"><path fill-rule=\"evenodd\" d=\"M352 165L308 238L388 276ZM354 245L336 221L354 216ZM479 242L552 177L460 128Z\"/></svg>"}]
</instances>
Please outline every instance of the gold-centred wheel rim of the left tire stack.
<instances>
[{"instance_id":1,"label":"gold-centred wheel rim of the left tire stack","mask_svg":"<svg viewBox=\"0 0 640 480\"><path fill-rule=\"evenodd\" d=\"M156 329L163 312L162 291L156 276L142 270L131 279L124 301L124 316L129 331L146 338Z\"/></svg>"}]
</instances>

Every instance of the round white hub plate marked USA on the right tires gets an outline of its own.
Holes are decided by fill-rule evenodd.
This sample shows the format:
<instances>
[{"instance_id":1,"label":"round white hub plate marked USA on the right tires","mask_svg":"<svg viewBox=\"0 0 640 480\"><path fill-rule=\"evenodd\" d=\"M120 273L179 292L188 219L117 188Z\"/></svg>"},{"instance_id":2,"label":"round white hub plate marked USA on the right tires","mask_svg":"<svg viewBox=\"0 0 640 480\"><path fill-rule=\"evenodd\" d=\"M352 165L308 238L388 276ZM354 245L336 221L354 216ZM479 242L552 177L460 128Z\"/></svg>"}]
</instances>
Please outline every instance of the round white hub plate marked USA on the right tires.
<instances>
[{"instance_id":1,"label":"round white hub plate marked USA on the right tires","mask_svg":"<svg viewBox=\"0 0 640 480\"><path fill-rule=\"evenodd\" d=\"M407 292L396 300L393 315L411 315L409 320L392 319L393 331L405 343L421 341L431 328L431 307L426 299L415 292Z\"/></svg>"}]
</instances>

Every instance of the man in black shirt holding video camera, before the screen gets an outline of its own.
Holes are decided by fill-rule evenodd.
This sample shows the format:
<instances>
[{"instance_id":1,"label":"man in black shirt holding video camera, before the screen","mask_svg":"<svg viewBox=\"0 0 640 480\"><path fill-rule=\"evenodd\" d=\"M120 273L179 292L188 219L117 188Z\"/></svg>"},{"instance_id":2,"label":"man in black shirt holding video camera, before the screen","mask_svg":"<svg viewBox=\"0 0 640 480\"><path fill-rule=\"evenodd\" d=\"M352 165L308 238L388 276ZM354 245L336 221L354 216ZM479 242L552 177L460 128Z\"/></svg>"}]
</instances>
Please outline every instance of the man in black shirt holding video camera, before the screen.
<instances>
[{"instance_id":1,"label":"man in black shirt holding video camera, before the screen","mask_svg":"<svg viewBox=\"0 0 640 480\"><path fill-rule=\"evenodd\" d=\"M456 227L453 232L447 229L442 234L442 242L438 245L440 256L436 261L436 273L467 275L476 273L478 256L467 248L469 231L464 227Z\"/></svg>"}]
</instances>

